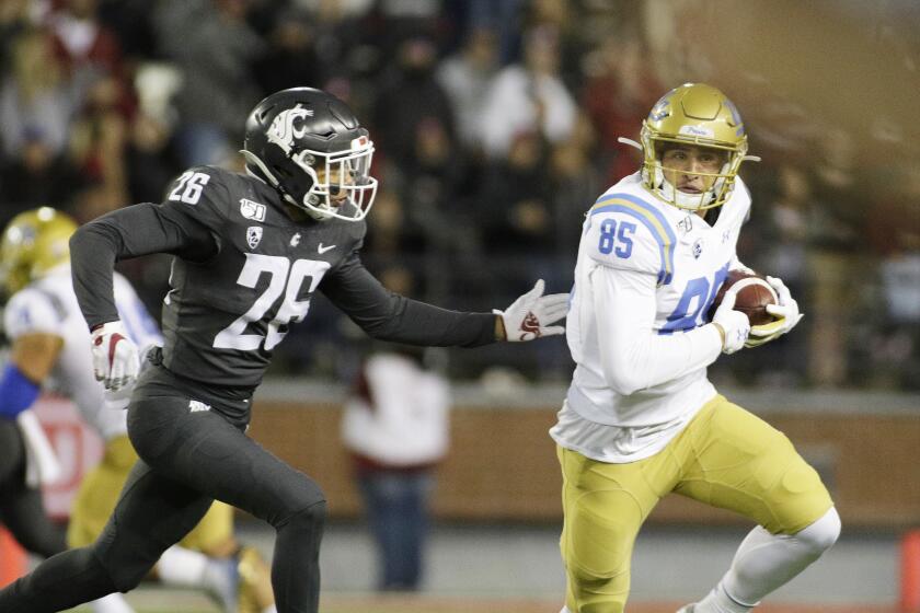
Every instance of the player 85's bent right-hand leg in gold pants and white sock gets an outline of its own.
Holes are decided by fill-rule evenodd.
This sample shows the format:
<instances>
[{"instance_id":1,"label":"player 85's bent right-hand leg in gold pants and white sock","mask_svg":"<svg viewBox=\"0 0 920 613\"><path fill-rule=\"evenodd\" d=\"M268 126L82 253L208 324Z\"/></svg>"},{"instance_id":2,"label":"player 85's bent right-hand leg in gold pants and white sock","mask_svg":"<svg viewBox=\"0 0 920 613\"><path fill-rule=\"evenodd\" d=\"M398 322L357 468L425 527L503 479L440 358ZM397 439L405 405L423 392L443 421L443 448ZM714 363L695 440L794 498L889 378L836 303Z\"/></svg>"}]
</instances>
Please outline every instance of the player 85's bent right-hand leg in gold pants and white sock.
<instances>
[{"instance_id":1,"label":"player 85's bent right-hand leg in gold pants and white sock","mask_svg":"<svg viewBox=\"0 0 920 613\"><path fill-rule=\"evenodd\" d=\"M721 396L691 421L688 440L694 451L676 491L760 524L694 612L748 611L836 542L839 517L790 440Z\"/></svg>"}]
</instances>

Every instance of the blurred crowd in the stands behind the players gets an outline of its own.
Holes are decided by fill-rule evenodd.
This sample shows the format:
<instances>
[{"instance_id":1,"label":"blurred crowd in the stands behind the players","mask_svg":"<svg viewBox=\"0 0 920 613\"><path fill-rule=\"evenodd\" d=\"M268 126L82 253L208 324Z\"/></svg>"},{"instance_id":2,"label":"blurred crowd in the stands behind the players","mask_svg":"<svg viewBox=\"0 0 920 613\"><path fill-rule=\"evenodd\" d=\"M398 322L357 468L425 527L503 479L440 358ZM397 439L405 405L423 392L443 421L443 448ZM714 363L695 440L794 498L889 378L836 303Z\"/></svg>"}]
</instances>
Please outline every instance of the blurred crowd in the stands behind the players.
<instances>
[{"instance_id":1,"label":"blurred crowd in the stands behind the players","mask_svg":"<svg viewBox=\"0 0 920 613\"><path fill-rule=\"evenodd\" d=\"M88 221L160 201L186 166L241 169L241 117L312 85L345 100L377 144L364 254L384 285L480 310L536 277L565 291L584 212L639 167L618 137L635 139L679 84L662 69L658 18L639 0L7 0L0 222L42 205ZM733 97L745 86L713 84ZM793 103L771 122L738 97L763 157L741 167L755 207L739 252L806 316L713 377L917 389L920 170L910 157L866 164L859 135L805 130ZM169 261L124 271L158 313ZM349 379L359 357L341 340L357 333L340 317L318 297L275 372ZM456 378L498 367L564 381L572 368L559 338L445 355Z\"/></svg>"}]
</instances>

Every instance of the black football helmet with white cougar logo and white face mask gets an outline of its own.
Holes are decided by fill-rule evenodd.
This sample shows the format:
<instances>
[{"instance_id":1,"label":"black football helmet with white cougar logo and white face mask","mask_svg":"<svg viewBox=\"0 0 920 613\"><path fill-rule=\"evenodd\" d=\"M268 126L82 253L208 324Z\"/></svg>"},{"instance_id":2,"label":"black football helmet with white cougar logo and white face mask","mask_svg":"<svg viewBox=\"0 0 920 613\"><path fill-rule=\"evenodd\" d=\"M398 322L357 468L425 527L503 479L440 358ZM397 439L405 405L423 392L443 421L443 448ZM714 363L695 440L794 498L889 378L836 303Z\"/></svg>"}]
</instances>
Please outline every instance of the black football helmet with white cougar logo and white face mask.
<instances>
[{"instance_id":1,"label":"black football helmet with white cougar logo and white face mask","mask_svg":"<svg viewBox=\"0 0 920 613\"><path fill-rule=\"evenodd\" d=\"M318 220L360 221L377 195L373 142L348 106L312 88L276 92L246 119L246 170Z\"/></svg>"}]
</instances>

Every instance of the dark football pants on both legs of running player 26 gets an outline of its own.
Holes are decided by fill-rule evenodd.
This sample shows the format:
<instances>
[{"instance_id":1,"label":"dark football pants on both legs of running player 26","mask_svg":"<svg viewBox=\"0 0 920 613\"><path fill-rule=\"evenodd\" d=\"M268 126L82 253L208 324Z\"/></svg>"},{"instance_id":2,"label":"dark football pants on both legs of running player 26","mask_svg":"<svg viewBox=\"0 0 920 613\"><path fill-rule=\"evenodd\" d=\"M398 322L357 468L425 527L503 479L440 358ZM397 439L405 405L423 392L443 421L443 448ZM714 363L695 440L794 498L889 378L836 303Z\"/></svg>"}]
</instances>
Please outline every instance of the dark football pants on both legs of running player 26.
<instances>
[{"instance_id":1,"label":"dark football pants on both legs of running player 26","mask_svg":"<svg viewBox=\"0 0 920 613\"><path fill-rule=\"evenodd\" d=\"M61 611L135 588L219 499L275 528L278 612L315 613L325 500L312 479L243 433L248 403L196 391L162 367L148 369L128 408L141 460L102 535L0 591L0 611Z\"/></svg>"}]
</instances>

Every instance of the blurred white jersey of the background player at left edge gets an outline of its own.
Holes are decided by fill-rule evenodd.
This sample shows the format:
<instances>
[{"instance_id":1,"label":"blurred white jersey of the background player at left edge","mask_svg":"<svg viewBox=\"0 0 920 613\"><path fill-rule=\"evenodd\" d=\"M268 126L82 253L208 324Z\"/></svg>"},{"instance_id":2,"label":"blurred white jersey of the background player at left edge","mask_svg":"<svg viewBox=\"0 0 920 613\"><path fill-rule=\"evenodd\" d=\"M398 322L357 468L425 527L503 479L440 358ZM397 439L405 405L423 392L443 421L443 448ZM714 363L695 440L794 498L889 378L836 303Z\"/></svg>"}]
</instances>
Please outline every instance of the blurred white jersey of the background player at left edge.
<instances>
[{"instance_id":1,"label":"blurred white jersey of the background player at left edge","mask_svg":"<svg viewBox=\"0 0 920 613\"><path fill-rule=\"evenodd\" d=\"M127 279L116 274L114 286L118 315L135 344L139 348L162 345L156 322ZM35 333L60 336L64 346L44 388L72 400L83 420L104 440L127 431L127 413L120 410L126 401L106 401L102 383L93 377L90 332L77 304L69 265L54 268L18 291L7 304L3 320L11 340Z\"/></svg>"}]
</instances>

